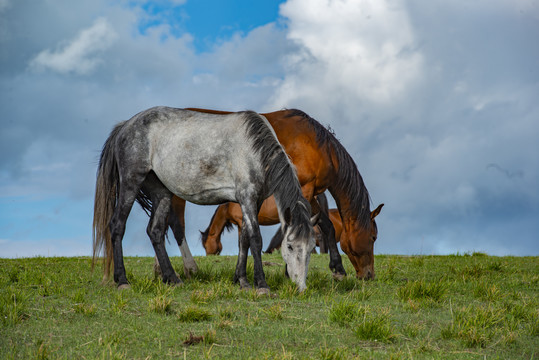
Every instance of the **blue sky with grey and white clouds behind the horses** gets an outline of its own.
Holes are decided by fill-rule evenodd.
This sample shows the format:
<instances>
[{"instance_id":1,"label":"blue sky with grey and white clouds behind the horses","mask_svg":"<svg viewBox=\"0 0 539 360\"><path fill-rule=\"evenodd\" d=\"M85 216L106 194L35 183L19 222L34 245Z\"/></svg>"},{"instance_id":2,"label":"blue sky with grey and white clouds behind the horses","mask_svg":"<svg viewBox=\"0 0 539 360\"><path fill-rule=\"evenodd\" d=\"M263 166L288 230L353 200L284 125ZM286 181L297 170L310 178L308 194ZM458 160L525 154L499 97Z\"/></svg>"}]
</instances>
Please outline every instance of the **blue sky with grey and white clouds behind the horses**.
<instances>
[{"instance_id":1,"label":"blue sky with grey and white clouds behind the horses","mask_svg":"<svg viewBox=\"0 0 539 360\"><path fill-rule=\"evenodd\" d=\"M537 0L0 0L0 257L91 255L101 147L156 105L330 126L385 204L375 254L537 256L537 38Z\"/></svg>"}]
</instances>

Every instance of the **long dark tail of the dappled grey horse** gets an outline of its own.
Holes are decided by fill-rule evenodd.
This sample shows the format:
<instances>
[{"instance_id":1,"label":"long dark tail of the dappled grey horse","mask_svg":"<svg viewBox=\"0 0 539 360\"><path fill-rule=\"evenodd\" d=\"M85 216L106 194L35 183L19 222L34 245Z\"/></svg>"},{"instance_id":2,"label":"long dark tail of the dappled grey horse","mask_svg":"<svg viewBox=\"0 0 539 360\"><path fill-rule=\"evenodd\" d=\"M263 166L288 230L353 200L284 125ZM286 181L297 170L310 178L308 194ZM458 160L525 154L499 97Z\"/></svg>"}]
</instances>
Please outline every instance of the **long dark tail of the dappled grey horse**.
<instances>
[{"instance_id":1,"label":"long dark tail of the dappled grey horse","mask_svg":"<svg viewBox=\"0 0 539 360\"><path fill-rule=\"evenodd\" d=\"M93 256L92 270L101 252L104 252L103 280L110 275L113 263L112 240L110 236L110 220L118 192L119 174L115 159L114 141L125 122L114 127L109 135L99 159L97 180L95 184L94 220L92 224Z\"/></svg>"}]
</instances>

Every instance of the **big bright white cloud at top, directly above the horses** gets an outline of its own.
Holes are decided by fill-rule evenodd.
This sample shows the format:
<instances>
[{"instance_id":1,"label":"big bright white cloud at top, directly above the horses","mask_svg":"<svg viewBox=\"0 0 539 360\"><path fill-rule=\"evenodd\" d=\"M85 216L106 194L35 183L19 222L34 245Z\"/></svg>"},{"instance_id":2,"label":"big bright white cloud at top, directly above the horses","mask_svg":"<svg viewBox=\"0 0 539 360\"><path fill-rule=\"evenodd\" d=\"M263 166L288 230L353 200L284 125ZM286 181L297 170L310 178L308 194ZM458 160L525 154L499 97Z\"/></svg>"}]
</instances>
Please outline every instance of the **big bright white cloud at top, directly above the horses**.
<instances>
[{"instance_id":1,"label":"big bright white cloud at top, directly above the horses","mask_svg":"<svg viewBox=\"0 0 539 360\"><path fill-rule=\"evenodd\" d=\"M395 2L290 0L281 15L288 19L288 38L302 51L288 58L276 106L328 93L344 104L387 104L420 75L421 54Z\"/></svg>"}]
</instances>

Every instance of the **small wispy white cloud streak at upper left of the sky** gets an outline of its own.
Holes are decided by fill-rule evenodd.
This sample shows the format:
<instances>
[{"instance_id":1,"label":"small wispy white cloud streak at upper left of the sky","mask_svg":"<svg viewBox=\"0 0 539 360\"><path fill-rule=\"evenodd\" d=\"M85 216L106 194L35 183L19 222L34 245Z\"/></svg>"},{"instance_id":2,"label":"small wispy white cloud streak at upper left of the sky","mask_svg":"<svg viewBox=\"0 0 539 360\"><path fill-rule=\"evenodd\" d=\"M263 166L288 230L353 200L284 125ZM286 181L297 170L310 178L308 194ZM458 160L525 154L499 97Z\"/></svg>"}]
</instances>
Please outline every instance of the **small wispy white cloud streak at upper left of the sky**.
<instances>
[{"instance_id":1,"label":"small wispy white cloud streak at upper left of the sky","mask_svg":"<svg viewBox=\"0 0 539 360\"><path fill-rule=\"evenodd\" d=\"M97 19L88 29L57 51L43 50L30 62L34 69L51 69L62 74L88 74L103 60L99 56L108 49L117 34L104 18Z\"/></svg>"}]
</instances>

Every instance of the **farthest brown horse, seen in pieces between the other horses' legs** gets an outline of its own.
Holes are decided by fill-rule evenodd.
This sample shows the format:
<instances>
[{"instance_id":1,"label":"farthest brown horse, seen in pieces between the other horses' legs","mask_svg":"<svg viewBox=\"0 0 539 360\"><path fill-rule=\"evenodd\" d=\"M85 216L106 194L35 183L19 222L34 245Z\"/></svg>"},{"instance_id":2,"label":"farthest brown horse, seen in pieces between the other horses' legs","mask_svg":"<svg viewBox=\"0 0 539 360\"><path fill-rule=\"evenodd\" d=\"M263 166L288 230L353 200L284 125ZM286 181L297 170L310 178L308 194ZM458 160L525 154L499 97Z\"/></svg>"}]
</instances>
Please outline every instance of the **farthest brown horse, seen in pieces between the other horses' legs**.
<instances>
[{"instance_id":1,"label":"farthest brown horse, seen in pieces between the other horses' legs","mask_svg":"<svg viewBox=\"0 0 539 360\"><path fill-rule=\"evenodd\" d=\"M328 214L328 203L325 194L320 194L316 196L316 201L320 206L320 211ZM241 210L235 206L230 206L232 203L221 204L215 210L210 224L206 230L200 232L200 239L202 241L202 246L206 250L206 255L219 255L223 250L223 244L221 242L221 235L224 230L231 231L233 225L238 227L238 237L241 234ZM275 219L268 218L264 216L265 214L271 214L275 212L275 209L268 209L267 207L275 207L275 200L273 198L268 198L262 204L262 208L258 213L258 222L260 225L275 225ZM235 213L236 212L236 213ZM319 215L315 215L317 218ZM240 219L240 221L238 221ZM277 220L278 221L278 220ZM316 224L314 224L316 225ZM316 245L320 246L320 252L327 253L325 234L321 232L319 226L315 226L315 240ZM271 243L278 243L279 246L282 242L282 231L278 229L275 235L273 236ZM325 250L325 251L324 251ZM271 253L271 251L267 251Z\"/></svg>"}]
</instances>

